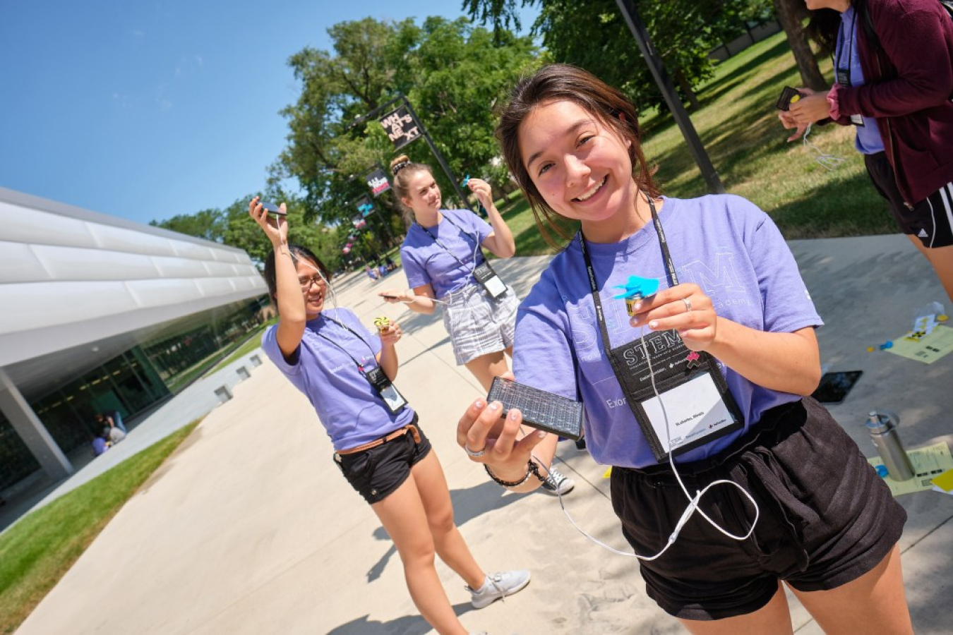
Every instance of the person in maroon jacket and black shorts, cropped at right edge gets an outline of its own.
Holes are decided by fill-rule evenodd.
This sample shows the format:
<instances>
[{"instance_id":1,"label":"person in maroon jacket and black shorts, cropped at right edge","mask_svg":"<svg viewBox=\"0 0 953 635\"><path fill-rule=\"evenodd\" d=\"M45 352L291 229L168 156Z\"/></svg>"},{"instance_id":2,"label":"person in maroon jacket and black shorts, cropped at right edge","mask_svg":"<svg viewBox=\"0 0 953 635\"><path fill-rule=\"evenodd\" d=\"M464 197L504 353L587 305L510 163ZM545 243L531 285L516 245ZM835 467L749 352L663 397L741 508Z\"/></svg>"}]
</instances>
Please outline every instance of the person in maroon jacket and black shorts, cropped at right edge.
<instances>
[{"instance_id":1,"label":"person in maroon jacket and black shorts, cropped at right edge","mask_svg":"<svg viewBox=\"0 0 953 635\"><path fill-rule=\"evenodd\" d=\"M781 112L788 141L827 119L856 126L870 180L953 299L953 20L938 0L805 2L836 81Z\"/></svg>"}]
</instances>

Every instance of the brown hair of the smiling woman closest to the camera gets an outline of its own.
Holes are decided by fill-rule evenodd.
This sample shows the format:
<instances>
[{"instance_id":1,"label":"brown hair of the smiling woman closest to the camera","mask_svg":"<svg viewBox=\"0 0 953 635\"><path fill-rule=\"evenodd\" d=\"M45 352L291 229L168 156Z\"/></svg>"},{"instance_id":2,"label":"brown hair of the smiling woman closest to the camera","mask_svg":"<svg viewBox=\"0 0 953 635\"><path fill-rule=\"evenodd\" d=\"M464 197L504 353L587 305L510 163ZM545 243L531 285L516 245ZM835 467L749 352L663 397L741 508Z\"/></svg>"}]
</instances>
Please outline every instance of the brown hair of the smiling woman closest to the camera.
<instances>
[{"instance_id":1,"label":"brown hair of the smiling woman closest to the camera","mask_svg":"<svg viewBox=\"0 0 953 635\"><path fill-rule=\"evenodd\" d=\"M561 218L556 210L549 207L539 193L529 172L523 166L519 152L519 126L537 106L547 102L567 101L577 104L581 109L596 117L602 125L614 130L622 139L632 142L629 147L629 159L632 161L632 176L640 190L649 196L659 196L659 189L652 181L656 169L650 168L642 153L641 129L636 107L624 94L614 89L592 73L568 64L549 64L528 77L523 77L510 93L510 102L502 110L497 125L497 140L503 150L503 159L507 168L517 180L523 195L533 209L537 227L546 242L558 247L550 230L559 238L568 241Z\"/></svg>"}]
</instances>

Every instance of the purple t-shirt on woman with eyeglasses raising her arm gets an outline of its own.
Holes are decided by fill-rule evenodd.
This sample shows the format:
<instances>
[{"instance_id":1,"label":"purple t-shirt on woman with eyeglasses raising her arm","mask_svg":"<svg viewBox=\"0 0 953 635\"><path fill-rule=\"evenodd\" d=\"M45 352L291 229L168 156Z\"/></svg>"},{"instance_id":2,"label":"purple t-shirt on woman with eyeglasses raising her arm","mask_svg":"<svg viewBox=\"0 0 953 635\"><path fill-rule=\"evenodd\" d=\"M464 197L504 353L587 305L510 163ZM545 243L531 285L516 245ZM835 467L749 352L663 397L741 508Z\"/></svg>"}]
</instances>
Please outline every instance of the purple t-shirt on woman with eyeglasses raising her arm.
<instances>
[{"instance_id":1,"label":"purple t-shirt on woman with eyeglasses raising her arm","mask_svg":"<svg viewBox=\"0 0 953 635\"><path fill-rule=\"evenodd\" d=\"M347 325L364 342L329 317ZM380 338L364 327L350 309L328 308L308 322L296 364L285 361L278 348L276 331L277 326L265 331L261 347L274 365L308 397L335 449L361 446L414 419L414 409L409 406L391 414L374 387L357 370L354 360L367 369L377 366L375 355L380 351ZM317 333L344 347L351 357Z\"/></svg>"}]
</instances>

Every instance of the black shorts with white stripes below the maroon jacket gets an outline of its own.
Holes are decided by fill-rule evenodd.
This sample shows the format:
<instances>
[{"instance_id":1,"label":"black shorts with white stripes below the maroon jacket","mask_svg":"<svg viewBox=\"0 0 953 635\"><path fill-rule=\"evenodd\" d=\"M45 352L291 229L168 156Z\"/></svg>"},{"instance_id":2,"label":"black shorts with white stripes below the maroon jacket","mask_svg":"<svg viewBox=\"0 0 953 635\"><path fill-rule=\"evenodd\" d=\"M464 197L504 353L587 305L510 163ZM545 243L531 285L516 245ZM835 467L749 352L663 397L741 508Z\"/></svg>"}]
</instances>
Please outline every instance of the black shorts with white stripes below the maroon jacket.
<instances>
[{"instance_id":1,"label":"black shorts with white stripes below the maroon jacket","mask_svg":"<svg viewBox=\"0 0 953 635\"><path fill-rule=\"evenodd\" d=\"M874 188L890 204L894 220L903 233L919 238L925 248L953 245L953 183L946 184L910 209L903 204L886 152L864 154L863 165Z\"/></svg>"}]
</instances>

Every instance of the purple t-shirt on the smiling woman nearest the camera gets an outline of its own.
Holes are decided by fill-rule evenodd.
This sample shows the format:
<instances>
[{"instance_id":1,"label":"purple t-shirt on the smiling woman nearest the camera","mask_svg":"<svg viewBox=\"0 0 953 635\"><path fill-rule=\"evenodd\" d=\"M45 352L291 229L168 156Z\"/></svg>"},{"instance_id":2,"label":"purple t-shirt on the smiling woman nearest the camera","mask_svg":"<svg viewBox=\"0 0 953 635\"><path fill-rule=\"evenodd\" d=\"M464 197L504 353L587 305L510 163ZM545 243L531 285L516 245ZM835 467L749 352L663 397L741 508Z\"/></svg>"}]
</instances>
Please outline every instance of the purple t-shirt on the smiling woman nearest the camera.
<instances>
[{"instance_id":1,"label":"purple t-shirt on the smiling woman nearest the camera","mask_svg":"<svg viewBox=\"0 0 953 635\"><path fill-rule=\"evenodd\" d=\"M767 214L732 195L664 198L659 218L679 274L696 283L721 316L746 327L791 332L819 327L821 318L794 256ZM586 243L612 347L639 337L625 301L615 299L631 275L668 288L655 226L647 223L615 244ZM651 331L646 327L645 333ZM719 363L744 417L744 429L771 407L798 395L756 386ZM519 306L513 368L517 381L581 399L586 447L598 463L643 467L658 462L639 429L603 352L596 311L578 239L559 253ZM680 454L678 462L716 454L744 429Z\"/></svg>"}]
</instances>

